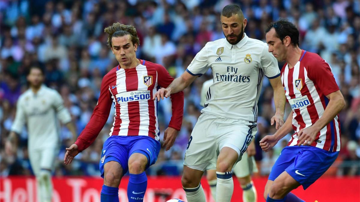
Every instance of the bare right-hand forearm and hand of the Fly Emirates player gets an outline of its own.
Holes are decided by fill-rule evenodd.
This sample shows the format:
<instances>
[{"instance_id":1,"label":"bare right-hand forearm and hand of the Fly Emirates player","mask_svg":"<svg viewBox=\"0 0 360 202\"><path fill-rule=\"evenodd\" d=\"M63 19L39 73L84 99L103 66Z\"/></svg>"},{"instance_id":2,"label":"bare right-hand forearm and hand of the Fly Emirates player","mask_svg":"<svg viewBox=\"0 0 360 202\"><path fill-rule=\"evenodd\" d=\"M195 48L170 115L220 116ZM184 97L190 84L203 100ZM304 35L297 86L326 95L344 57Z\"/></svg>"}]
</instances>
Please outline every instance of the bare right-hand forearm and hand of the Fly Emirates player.
<instances>
[{"instance_id":1,"label":"bare right-hand forearm and hand of the Fly Emirates player","mask_svg":"<svg viewBox=\"0 0 360 202\"><path fill-rule=\"evenodd\" d=\"M279 129L284 124L284 109L285 109L285 91L281 78L276 77L269 79L271 87L274 89L275 115L271 118L271 125L276 122L275 128Z\"/></svg>"}]
</instances>

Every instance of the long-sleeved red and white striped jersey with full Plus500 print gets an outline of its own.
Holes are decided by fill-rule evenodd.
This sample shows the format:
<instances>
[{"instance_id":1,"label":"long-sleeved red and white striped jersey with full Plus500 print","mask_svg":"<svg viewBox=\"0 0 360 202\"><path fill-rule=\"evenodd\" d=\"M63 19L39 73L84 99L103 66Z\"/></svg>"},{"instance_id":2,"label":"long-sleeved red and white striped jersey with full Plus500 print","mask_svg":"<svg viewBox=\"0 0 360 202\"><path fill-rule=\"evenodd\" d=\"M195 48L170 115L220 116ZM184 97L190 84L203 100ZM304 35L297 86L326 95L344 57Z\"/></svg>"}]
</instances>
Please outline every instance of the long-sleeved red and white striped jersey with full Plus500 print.
<instances>
[{"instance_id":1,"label":"long-sleeved red and white striped jersey with full Plus500 print","mask_svg":"<svg viewBox=\"0 0 360 202\"><path fill-rule=\"evenodd\" d=\"M145 60L140 62L130 69L122 69L118 65L104 76L98 104L75 142L79 151L94 142L108 119L112 104L115 114L109 136L149 136L159 140L158 102L153 100L153 96L160 87L166 88L174 78L161 65ZM169 127L180 130L184 93L172 94L171 102L172 118Z\"/></svg>"}]
</instances>

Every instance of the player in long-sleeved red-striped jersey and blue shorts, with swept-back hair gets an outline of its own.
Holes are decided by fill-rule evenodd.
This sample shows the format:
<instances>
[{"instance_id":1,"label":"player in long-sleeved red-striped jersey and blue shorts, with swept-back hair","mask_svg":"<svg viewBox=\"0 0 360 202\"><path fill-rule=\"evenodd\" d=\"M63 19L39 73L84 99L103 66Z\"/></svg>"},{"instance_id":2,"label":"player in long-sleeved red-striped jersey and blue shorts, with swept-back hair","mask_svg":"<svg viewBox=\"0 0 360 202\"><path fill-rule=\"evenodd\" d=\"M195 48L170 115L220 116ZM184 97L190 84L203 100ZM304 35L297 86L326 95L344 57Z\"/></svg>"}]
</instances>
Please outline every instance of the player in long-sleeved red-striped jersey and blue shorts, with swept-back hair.
<instances>
[{"instance_id":1,"label":"player in long-sleeved red-striped jersey and blue shorts, with swept-back hair","mask_svg":"<svg viewBox=\"0 0 360 202\"><path fill-rule=\"evenodd\" d=\"M75 144L66 148L65 164L94 142L104 127L111 105L114 104L114 123L104 142L100 172L104 178L101 202L119 201L118 187L129 170L127 197L130 202L143 201L147 176L145 170L157 160L160 151L157 88L167 87L174 78L158 64L136 58L139 37L135 27L114 23L104 29L108 46L119 65L107 73L101 84L100 97L89 123ZM169 150L183 120L184 94L171 95L172 118L164 133L164 146Z\"/></svg>"}]
</instances>

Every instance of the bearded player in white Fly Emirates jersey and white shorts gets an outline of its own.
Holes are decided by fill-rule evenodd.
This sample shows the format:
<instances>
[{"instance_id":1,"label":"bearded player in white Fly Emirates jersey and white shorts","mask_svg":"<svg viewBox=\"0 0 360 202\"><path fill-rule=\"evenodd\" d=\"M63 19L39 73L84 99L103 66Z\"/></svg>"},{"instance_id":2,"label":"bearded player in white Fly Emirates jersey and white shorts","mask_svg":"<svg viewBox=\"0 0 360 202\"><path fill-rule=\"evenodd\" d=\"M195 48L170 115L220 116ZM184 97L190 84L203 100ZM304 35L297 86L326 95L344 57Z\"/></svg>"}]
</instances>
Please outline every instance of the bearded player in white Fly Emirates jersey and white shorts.
<instances>
[{"instance_id":1,"label":"bearded player in white Fly Emirates jersey and white shorts","mask_svg":"<svg viewBox=\"0 0 360 202\"><path fill-rule=\"evenodd\" d=\"M271 122L282 125L285 96L276 59L266 43L244 33L247 19L237 5L227 5L220 20L225 38L208 42L186 71L156 96L168 97L188 87L212 69L214 83L190 136L181 179L189 202L205 201L200 184L205 170L216 169L216 202L228 202L234 190L231 170L241 160L256 133L257 102L265 74L274 89L276 113Z\"/></svg>"}]
</instances>

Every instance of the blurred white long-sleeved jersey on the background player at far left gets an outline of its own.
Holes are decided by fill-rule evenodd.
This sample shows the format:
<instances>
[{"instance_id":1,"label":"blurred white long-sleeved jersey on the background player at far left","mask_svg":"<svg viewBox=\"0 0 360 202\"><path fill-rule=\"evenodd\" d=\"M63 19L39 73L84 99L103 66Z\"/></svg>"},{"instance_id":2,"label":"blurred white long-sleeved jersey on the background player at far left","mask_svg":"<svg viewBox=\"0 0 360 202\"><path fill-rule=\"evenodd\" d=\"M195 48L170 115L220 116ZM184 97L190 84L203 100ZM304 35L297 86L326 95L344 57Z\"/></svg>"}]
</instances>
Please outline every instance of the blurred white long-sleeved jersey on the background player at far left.
<instances>
[{"instance_id":1,"label":"blurred white long-sleeved jersey on the background player at far left","mask_svg":"<svg viewBox=\"0 0 360 202\"><path fill-rule=\"evenodd\" d=\"M29 149L56 147L60 132L57 119L65 124L71 116L60 94L43 85L36 94L28 89L19 97L11 130L21 133L26 124Z\"/></svg>"}]
</instances>

